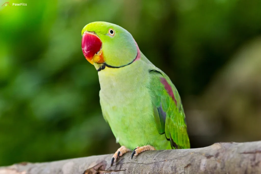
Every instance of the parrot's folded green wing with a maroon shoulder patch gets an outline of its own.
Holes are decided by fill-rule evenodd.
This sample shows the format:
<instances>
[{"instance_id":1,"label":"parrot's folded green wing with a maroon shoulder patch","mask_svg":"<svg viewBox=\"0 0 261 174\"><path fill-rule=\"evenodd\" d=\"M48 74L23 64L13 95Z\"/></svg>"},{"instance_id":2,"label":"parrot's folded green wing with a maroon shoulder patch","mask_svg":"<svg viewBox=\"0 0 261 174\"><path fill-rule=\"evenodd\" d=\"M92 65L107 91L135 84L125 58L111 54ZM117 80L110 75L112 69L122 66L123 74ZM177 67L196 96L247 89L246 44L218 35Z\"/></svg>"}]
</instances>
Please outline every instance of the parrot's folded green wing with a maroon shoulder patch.
<instances>
[{"instance_id":1,"label":"parrot's folded green wing with a maroon shoulder patch","mask_svg":"<svg viewBox=\"0 0 261 174\"><path fill-rule=\"evenodd\" d=\"M165 133L172 148L190 148L185 113L176 87L156 67L150 70L150 75L154 118L159 134Z\"/></svg>"}]
</instances>

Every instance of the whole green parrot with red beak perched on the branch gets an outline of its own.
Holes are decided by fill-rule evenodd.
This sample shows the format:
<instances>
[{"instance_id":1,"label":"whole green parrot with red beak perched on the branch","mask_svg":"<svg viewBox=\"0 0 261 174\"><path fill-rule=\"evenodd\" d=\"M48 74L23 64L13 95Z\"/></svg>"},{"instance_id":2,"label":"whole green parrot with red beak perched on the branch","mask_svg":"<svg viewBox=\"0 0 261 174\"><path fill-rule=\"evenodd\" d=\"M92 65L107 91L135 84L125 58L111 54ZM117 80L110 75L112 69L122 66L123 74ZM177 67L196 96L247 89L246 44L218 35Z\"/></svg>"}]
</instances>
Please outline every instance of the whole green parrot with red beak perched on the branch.
<instances>
[{"instance_id":1,"label":"whole green parrot with red beak perched on the branch","mask_svg":"<svg viewBox=\"0 0 261 174\"><path fill-rule=\"evenodd\" d=\"M140 51L132 35L108 22L82 29L82 51L98 71L102 114L124 153L190 148L180 95Z\"/></svg>"}]
</instances>

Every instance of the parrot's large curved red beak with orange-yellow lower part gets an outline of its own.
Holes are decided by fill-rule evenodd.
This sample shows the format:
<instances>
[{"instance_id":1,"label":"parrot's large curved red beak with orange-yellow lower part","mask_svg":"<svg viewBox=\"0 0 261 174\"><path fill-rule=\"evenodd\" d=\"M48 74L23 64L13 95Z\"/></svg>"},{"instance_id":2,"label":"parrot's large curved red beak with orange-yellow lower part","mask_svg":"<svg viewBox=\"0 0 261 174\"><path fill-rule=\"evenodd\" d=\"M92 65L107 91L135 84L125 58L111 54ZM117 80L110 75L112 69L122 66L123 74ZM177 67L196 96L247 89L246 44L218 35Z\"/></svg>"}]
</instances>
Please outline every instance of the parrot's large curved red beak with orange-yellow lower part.
<instances>
[{"instance_id":1,"label":"parrot's large curved red beak with orange-yellow lower part","mask_svg":"<svg viewBox=\"0 0 261 174\"><path fill-rule=\"evenodd\" d=\"M82 35L82 52L91 64L104 63L101 47L102 41L97 35L88 32Z\"/></svg>"}]
</instances>

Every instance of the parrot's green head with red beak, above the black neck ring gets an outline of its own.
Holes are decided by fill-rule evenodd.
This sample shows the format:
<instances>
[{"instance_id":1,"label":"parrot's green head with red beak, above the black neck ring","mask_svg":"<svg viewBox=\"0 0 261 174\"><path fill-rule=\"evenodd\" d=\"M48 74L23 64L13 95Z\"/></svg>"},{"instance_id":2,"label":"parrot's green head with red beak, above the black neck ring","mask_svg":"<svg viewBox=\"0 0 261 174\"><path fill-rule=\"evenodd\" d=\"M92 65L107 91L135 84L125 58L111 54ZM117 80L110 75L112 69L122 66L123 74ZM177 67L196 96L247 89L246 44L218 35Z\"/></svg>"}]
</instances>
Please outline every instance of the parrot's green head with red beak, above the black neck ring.
<instances>
[{"instance_id":1,"label":"parrot's green head with red beak, above the black neck ring","mask_svg":"<svg viewBox=\"0 0 261 174\"><path fill-rule=\"evenodd\" d=\"M108 22L92 22L82 29L82 52L100 71L120 68L140 59L140 50L124 28Z\"/></svg>"}]
</instances>

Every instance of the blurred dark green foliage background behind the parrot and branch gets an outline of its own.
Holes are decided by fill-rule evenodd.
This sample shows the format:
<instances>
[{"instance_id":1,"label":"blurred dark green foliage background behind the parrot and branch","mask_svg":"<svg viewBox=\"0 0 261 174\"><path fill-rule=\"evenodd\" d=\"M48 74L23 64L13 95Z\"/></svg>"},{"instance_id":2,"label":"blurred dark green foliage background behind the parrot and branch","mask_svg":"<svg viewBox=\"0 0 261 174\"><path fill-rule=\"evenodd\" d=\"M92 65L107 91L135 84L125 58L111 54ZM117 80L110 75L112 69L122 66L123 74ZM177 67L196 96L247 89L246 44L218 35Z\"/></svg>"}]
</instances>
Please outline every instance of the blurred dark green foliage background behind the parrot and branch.
<instances>
[{"instance_id":1,"label":"blurred dark green foliage background behind the parrot and branch","mask_svg":"<svg viewBox=\"0 0 261 174\"><path fill-rule=\"evenodd\" d=\"M97 71L81 50L81 30L93 21L127 29L169 75L192 148L261 139L260 0L9 3L0 7L0 166L120 146L102 117Z\"/></svg>"}]
</instances>

